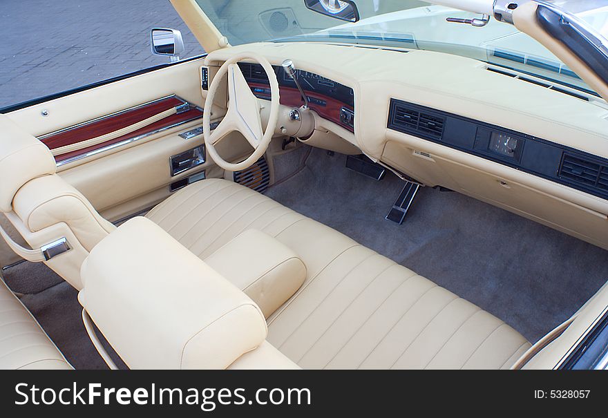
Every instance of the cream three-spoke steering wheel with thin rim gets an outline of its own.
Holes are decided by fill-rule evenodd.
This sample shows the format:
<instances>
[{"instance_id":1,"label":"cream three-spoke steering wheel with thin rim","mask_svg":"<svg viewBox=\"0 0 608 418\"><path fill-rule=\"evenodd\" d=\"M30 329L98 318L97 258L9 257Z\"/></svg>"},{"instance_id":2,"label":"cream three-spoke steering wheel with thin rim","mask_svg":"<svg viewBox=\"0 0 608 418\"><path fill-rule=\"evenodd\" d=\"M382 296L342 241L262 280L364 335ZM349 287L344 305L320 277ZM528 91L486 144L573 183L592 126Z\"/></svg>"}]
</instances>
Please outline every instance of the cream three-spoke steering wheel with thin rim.
<instances>
[{"instance_id":1,"label":"cream three-spoke steering wheel with thin rim","mask_svg":"<svg viewBox=\"0 0 608 418\"><path fill-rule=\"evenodd\" d=\"M241 72L238 61L250 59L256 61L264 68L270 81L270 117L266 126L266 131L263 133L262 120L260 117L260 102L258 98L251 92L249 84L245 80ZM213 97L215 97L220 82L225 74L228 74L228 111L224 119L216 129L211 131L211 106ZM218 73L213 77L213 81L209 86L207 99L205 99L205 109L202 114L202 134L205 137L205 147L213 161L228 171L240 171L247 169L251 164L254 164L266 152L278 120L279 95L278 81L272 65L267 59L256 53L242 53L225 61L218 70ZM254 148L254 152L249 157L236 164L227 162L216 150L216 145L231 132L238 131Z\"/></svg>"}]
</instances>

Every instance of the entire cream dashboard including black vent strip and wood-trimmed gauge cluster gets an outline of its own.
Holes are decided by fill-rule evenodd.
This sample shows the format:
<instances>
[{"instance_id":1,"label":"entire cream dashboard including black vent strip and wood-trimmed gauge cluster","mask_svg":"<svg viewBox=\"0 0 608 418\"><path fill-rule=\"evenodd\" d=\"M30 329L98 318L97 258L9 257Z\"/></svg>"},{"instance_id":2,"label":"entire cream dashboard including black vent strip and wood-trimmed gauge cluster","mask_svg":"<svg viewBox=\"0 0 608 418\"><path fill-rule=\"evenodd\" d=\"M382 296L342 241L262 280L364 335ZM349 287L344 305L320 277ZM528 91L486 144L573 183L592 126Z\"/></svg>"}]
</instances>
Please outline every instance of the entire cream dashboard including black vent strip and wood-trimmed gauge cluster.
<instances>
[{"instance_id":1,"label":"entire cream dashboard including black vent strip and wood-trimmed gauge cluster","mask_svg":"<svg viewBox=\"0 0 608 418\"><path fill-rule=\"evenodd\" d=\"M247 52L273 64L281 102L300 106L279 66L291 59L317 123L354 153L608 249L608 104L598 97L424 50L260 43L214 51L206 64ZM268 98L262 68L242 68Z\"/></svg>"}]
</instances>

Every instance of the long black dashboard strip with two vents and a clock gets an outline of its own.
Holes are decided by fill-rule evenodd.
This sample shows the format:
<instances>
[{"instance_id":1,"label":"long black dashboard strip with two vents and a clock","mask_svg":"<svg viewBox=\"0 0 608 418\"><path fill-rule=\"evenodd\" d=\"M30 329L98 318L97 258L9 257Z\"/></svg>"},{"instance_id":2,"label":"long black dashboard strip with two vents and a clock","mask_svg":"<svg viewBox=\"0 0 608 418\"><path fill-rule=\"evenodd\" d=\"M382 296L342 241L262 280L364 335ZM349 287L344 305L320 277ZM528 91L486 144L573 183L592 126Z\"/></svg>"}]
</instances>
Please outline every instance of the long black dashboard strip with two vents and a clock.
<instances>
[{"instance_id":1,"label":"long black dashboard strip with two vents and a clock","mask_svg":"<svg viewBox=\"0 0 608 418\"><path fill-rule=\"evenodd\" d=\"M608 159L596 155L394 98L387 126L608 199Z\"/></svg>"}]
</instances>

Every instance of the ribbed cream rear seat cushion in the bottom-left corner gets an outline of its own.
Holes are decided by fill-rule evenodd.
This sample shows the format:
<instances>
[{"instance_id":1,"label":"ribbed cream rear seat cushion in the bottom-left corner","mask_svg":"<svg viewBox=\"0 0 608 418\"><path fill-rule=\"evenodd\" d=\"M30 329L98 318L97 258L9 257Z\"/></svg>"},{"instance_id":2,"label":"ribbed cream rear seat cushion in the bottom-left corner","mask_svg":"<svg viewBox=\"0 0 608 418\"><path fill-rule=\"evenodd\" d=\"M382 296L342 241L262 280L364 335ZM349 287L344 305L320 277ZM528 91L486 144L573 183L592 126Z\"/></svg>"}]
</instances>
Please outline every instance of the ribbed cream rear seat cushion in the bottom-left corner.
<instances>
[{"instance_id":1,"label":"ribbed cream rear seat cushion in the bottom-left corner","mask_svg":"<svg viewBox=\"0 0 608 418\"><path fill-rule=\"evenodd\" d=\"M0 369L71 369L32 314L0 280Z\"/></svg>"}]
</instances>

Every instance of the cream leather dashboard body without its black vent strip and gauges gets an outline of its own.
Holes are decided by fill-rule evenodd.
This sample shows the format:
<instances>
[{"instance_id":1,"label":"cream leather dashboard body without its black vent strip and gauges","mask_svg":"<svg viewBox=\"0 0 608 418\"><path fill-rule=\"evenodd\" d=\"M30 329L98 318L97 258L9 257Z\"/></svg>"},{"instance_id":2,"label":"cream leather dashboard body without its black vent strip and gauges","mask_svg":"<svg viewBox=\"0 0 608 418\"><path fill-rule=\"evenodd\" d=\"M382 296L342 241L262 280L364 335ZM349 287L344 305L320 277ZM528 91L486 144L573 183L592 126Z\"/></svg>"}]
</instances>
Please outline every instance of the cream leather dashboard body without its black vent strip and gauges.
<instances>
[{"instance_id":1,"label":"cream leather dashboard body without its black vent strip and gauges","mask_svg":"<svg viewBox=\"0 0 608 418\"><path fill-rule=\"evenodd\" d=\"M216 50L205 64L244 51L274 65L292 59L296 68L352 88L354 133L319 117L316 124L372 160L608 249L605 198L387 127L395 98L608 158L608 106L601 99L586 101L495 73L481 61L422 50L260 43Z\"/></svg>"}]
</instances>

